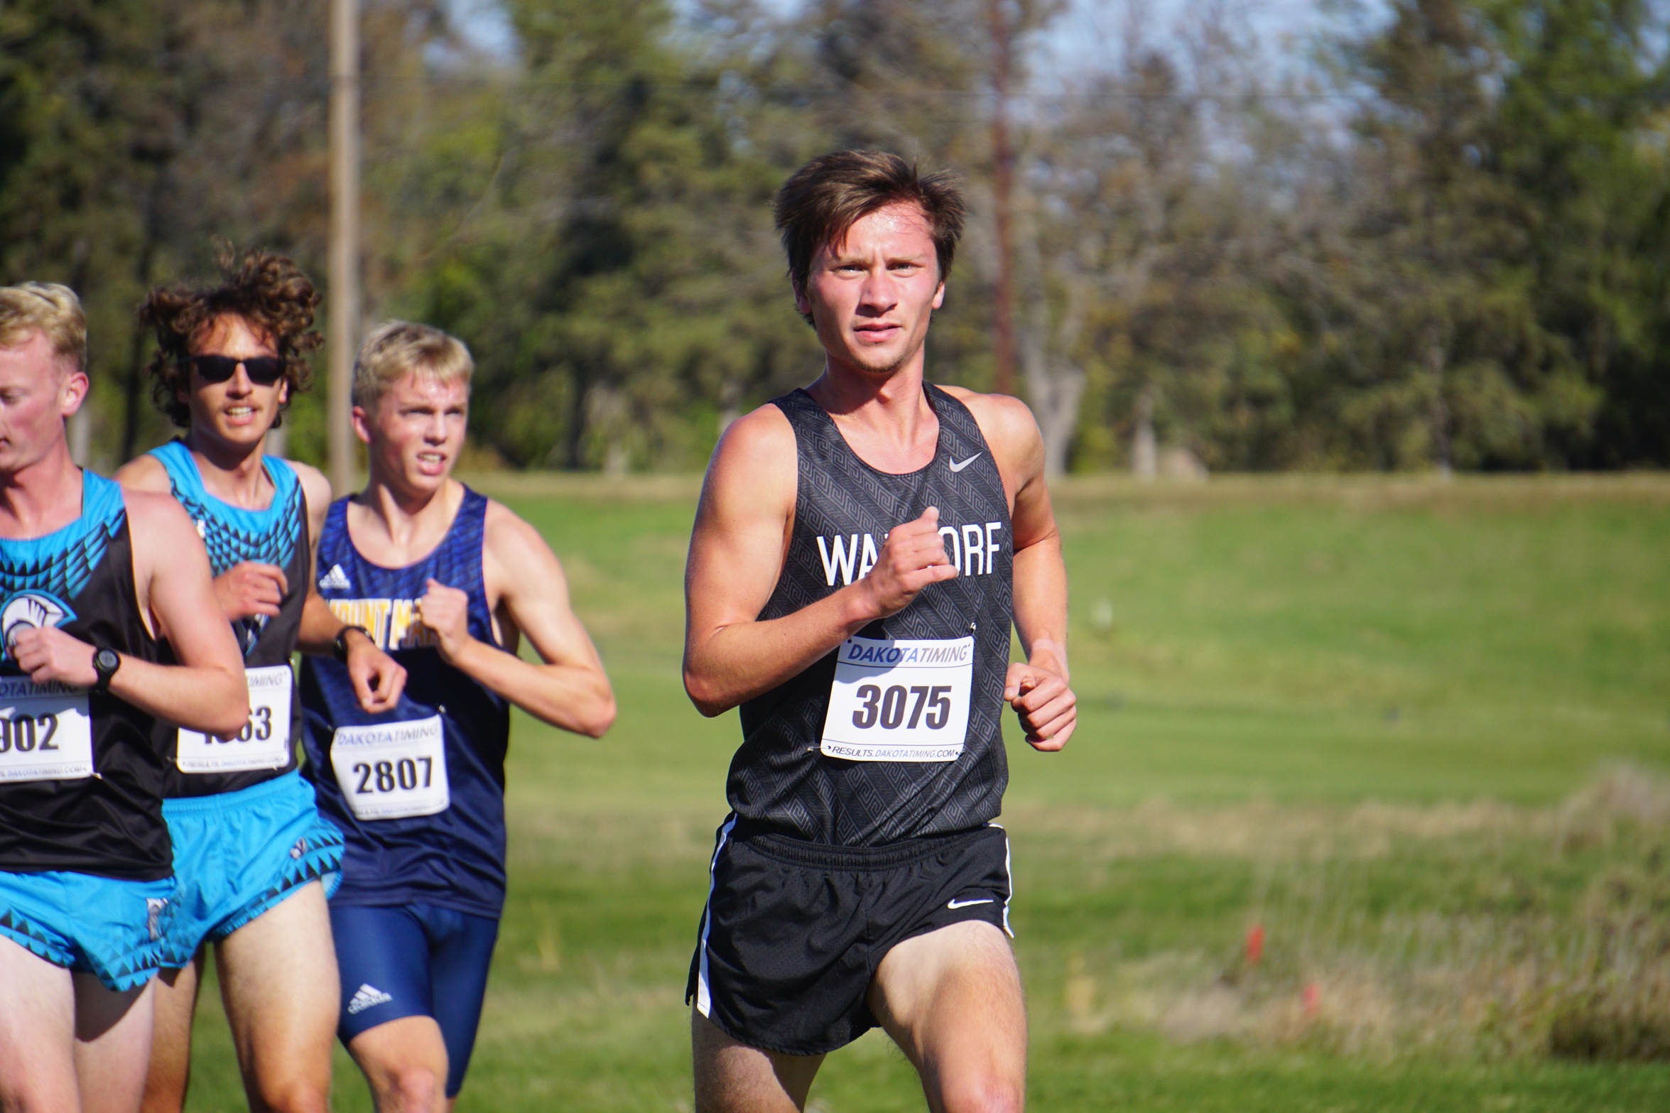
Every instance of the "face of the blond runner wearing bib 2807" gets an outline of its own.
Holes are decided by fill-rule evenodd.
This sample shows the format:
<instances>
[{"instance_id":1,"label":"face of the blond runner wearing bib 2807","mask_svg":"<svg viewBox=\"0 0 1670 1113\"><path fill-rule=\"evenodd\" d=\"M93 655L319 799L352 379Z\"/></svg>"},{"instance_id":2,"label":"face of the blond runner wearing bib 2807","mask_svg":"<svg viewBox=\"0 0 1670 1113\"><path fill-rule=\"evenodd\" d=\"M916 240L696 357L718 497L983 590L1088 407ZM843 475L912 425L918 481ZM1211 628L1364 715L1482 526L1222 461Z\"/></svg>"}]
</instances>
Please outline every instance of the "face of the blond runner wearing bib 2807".
<instances>
[{"instance_id":1,"label":"face of the blond runner wearing bib 2807","mask_svg":"<svg viewBox=\"0 0 1670 1113\"><path fill-rule=\"evenodd\" d=\"M438 491L464 447L469 384L409 374L384 392L376 410L354 407L354 426L371 446L384 481L411 491Z\"/></svg>"}]
</instances>

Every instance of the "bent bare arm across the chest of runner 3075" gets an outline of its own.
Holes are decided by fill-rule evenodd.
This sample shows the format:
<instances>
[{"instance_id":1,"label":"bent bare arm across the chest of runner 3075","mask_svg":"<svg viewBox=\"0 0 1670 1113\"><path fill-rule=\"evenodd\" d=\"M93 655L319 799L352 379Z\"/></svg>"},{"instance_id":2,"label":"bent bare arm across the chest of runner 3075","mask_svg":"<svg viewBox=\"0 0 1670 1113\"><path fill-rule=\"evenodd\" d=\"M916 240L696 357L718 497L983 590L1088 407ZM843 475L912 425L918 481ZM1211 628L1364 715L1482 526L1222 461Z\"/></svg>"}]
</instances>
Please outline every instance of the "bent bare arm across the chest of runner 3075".
<instances>
[{"instance_id":1,"label":"bent bare arm across the chest of runner 3075","mask_svg":"<svg viewBox=\"0 0 1670 1113\"><path fill-rule=\"evenodd\" d=\"M870 574L780 619L758 621L795 517L795 432L775 405L725 431L701 486L685 567L685 691L705 716L768 692L932 582L957 576L939 511L898 524Z\"/></svg>"}]
</instances>

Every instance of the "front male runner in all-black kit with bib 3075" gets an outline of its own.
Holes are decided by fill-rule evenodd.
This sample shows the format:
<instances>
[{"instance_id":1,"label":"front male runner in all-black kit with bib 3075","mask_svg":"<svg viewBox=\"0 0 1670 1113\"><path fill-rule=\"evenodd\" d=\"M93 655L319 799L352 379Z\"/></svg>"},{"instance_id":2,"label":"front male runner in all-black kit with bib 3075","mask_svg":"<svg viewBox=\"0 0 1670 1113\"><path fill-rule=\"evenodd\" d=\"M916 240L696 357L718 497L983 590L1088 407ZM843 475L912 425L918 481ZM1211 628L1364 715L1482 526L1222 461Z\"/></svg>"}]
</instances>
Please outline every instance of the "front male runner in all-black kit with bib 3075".
<instances>
[{"instance_id":1,"label":"front male runner in all-black kit with bib 3075","mask_svg":"<svg viewBox=\"0 0 1670 1113\"><path fill-rule=\"evenodd\" d=\"M1067 576L1032 414L922 379L962 215L875 152L777 195L825 367L726 431L690 546L685 687L743 724L690 971L698 1113L800 1110L875 1025L935 1113L1024 1103L990 821L1004 701L1037 749L1075 724Z\"/></svg>"}]
</instances>

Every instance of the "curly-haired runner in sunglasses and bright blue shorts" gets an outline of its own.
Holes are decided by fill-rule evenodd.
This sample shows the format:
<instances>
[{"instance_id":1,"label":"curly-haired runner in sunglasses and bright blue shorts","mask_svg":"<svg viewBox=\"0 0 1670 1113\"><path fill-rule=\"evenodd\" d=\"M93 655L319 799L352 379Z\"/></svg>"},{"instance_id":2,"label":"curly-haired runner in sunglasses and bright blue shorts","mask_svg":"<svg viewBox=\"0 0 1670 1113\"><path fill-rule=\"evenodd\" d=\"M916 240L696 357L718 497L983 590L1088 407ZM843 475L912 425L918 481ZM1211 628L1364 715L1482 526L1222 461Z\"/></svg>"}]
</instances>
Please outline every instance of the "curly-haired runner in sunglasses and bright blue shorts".
<instances>
[{"instance_id":1,"label":"curly-haired runner in sunglasses and bright blue shorts","mask_svg":"<svg viewBox=\"0 0 1670 1113\"><path fill-rule=\"evenodd\" d=\"M247 252L224 270L212 287L152 290L140 309L157 334L154 395L185 436L117 474L172 494L197 524L250 696L249 723L232 738L162 724L155 739L180 913L164 939L145 1110L185 1103L205 943L250 1106L326 1110L337 1013L326 891L342 834L297 773L291 654L344 659L366 711L394 706L404 669L309 589L331 484L264 452L292 392L307 387L319 297L281 255Z\"/></svg>"}]
</instances>

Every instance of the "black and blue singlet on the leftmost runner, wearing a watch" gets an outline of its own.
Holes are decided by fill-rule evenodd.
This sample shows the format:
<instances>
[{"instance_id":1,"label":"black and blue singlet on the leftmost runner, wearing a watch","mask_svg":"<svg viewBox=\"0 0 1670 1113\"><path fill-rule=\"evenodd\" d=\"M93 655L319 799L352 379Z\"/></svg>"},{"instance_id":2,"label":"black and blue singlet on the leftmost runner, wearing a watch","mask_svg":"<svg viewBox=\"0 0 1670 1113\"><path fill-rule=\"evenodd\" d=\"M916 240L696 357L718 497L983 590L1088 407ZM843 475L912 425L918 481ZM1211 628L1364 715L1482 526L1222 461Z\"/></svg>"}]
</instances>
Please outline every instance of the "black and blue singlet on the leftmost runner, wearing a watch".
<instances>
[{"instance_id":1,"label":"black and blue singlet on the leftmost runner, wearing a watch","mask_svg":"<svg viewBox=\"0 0 1670 1113\"><path fill-rule=\"evenodd\" d=\"M45 537L0 539L0 636L57 626L157 661L134 587L122 489L82 472L82 516ZM160 881L174 869L162 821L154 719L109 692L37 686L0 662L0 871L65 869Z\"/></svg>"}]
</instances>

